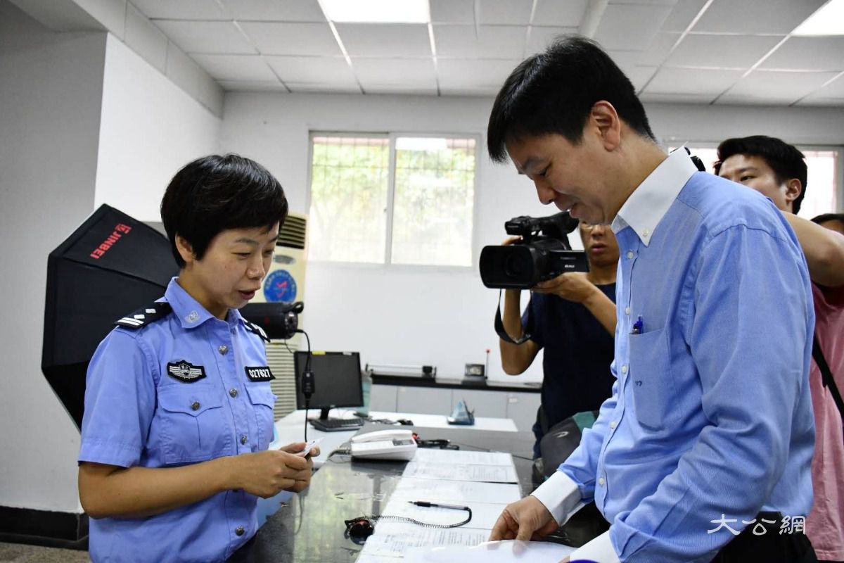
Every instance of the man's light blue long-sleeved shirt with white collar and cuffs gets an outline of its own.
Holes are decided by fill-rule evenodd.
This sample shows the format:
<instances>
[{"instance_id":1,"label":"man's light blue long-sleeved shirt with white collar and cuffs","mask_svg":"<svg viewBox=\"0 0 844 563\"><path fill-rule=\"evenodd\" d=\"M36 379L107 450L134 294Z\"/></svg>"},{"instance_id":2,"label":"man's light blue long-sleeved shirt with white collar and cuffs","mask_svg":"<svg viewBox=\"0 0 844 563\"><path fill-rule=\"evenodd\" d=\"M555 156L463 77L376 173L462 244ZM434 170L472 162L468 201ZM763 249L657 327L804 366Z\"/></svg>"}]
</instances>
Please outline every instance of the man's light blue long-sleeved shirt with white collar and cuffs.
<instances>
[{"instance_id":1,"label":"man's light blue long-sleeved shirt with white collar and cuffs","mask_svg":"<svg viewBox=\"0 0 844 563\"><path fill-rule=\"evenodd\" d=\"M709 561L734 537L709 533L722 515L737 533L760 511L807 515L814 311L793 230L682 149L613 230L613 396L534 495L560 521L594 498L611 527L591 544L625 563Z\"/></svg>"}]
</instances>

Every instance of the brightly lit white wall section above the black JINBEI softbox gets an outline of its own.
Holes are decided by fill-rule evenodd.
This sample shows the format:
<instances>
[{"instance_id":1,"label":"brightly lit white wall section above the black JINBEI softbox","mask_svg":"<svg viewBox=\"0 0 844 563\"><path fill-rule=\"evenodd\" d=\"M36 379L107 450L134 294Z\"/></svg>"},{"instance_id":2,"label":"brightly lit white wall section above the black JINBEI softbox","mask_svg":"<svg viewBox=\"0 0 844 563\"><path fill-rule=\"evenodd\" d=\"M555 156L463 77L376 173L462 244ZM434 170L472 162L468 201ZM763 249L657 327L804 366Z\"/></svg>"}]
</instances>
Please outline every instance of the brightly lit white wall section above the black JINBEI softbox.
<instances>
[{"instance_id":1,"label":"brightly lit white wall section above the black JINBEI softbox","mask_svg":"<svg viewBox=\"0 0 844 563\"><path fill-rule=\"evenodd\" d=\"M108 35L95 207L160 221L165 187L187 162L218 151L220 120Z\"/></svg>"}]
</instances>

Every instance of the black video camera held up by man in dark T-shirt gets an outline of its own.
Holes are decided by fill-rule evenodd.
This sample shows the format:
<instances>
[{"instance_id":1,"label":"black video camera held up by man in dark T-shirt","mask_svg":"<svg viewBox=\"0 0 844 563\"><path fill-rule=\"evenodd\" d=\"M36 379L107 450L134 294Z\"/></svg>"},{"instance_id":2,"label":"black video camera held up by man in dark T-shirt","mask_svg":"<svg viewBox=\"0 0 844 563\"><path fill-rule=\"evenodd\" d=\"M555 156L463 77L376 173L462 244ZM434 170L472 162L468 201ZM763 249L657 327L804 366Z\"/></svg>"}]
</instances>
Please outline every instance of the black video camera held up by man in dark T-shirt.
<instances>
[{"instance_id":1,"label":"black video camera held up by man in dark T-shirt","mask_svg":"<svg viewBox=\"0 0 844 563\"><path fill-rule=\"evenodd\" d=\"M480 278L489 288L528 290L560 273L588 272L586 252L571 250L569 244L567 235L576 228L577 219L566 211L550 217L522 215L510 219L504 229L522 240L484 246L480 252Z\"/></svg>"}]
</instances>

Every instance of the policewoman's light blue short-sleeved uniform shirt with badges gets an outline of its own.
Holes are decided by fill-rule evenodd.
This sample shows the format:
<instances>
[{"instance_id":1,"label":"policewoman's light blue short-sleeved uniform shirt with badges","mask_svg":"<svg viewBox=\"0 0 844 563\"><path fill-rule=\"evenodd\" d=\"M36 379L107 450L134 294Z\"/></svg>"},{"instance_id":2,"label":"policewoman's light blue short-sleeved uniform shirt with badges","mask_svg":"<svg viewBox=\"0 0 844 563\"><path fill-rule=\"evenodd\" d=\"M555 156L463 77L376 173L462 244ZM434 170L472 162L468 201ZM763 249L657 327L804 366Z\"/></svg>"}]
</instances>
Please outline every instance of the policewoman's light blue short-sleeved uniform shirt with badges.
<instances>
[{"instance_id":1,"label":"policewoman's light blue short-sleeved uniform shirt with badges","mask_svg":"<svg viewBox=\"0 0 844 563\"><path fill-rule=\"evenodd\" d=\"M272 441L275 397L254 325L235 309L214 317L175 278L164 300L172 310L163 318L115 328L97 348L80 462L176 467ZM257 532L256 504L228 490L154 517L92 518L89 553L95 563L224 561Z\"/></svg>"}]
</instances>

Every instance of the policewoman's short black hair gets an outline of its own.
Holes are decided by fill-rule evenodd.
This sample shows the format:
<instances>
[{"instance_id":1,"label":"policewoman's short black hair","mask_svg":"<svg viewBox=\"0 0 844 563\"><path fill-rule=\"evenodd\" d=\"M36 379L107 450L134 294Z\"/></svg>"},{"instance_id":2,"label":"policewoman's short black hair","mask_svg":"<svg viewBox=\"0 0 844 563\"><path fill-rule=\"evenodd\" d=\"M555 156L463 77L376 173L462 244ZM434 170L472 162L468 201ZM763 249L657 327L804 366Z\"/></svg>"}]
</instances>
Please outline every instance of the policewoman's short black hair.
<instances>
[{"instance_id":1,"label":"policewoman's short black hair","mask_svg":"<svg viewBox=\"0 0 844 563\"><path fill-rule=\"evenodd\" d=\"M284 224L287 198L275 177L238 154L210 154L185 165L170 180L161 199L161 221L179 268L185 261L176 235L202 260L214 236L228 229Z\"/></svg>"}]
</instances>

